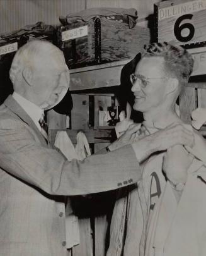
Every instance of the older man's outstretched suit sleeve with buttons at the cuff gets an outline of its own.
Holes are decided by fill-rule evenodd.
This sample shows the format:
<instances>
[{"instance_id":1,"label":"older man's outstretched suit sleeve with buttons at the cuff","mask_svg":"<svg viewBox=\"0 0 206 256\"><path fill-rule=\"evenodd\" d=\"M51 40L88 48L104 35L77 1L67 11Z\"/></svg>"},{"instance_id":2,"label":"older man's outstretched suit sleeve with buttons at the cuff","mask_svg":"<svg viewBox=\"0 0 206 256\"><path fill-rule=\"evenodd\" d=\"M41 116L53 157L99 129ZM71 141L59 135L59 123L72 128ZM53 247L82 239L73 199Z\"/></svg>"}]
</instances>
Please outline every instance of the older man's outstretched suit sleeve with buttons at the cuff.
<instances>
[{"instance_id":1,"label":"older man's outstretched suit sleeve with buttons at the cuff","mask_svg":"<svg viewBox=\"0 0 206 256\"><path fill-rule=\"evenodd\" d=\"M43 147L28 126L13 119L0 122L0 166L51 195L104 192L141 178L131 146L91 155L83 161L67 161L57 150Z\"/></svg>"}]
</instances>

